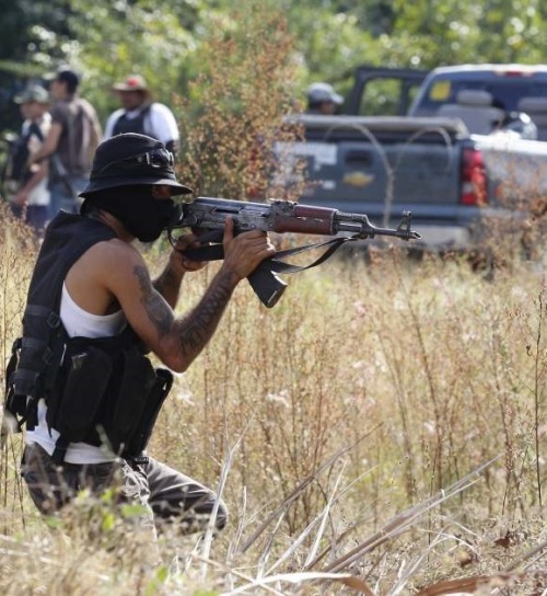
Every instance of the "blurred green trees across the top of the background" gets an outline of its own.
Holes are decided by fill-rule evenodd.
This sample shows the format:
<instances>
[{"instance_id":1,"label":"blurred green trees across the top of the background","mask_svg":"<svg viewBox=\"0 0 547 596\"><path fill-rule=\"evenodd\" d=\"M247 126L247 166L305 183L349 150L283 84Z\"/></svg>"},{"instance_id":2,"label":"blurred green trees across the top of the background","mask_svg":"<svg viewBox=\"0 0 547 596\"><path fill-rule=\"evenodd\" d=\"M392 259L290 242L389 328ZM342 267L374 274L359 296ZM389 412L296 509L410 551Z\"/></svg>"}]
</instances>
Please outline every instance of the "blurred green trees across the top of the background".
<instances>
[{"instance_id":1,"label":"blurred green trees across the top of the background","mask_svg":"<svg viewBox=\"0 0 547 596\"><path fill-rule=\"evenodd\" d=\"M242 8L286 16L296 68L294 99L313 80L347 92L362 64L542 62L547 43L540 0L251 0ZM13 84L61 62L83 72L82 92L103 122L118 105L109 87L132 72L144 76L158 100L168 104L173 94L191 93L211 38L243 31L242 24L229 0L19 0L3 9L0 22L4 105L10 106ZM10 119L0 127L16 116L11 105Z\"/></svg>"}]
</instances>

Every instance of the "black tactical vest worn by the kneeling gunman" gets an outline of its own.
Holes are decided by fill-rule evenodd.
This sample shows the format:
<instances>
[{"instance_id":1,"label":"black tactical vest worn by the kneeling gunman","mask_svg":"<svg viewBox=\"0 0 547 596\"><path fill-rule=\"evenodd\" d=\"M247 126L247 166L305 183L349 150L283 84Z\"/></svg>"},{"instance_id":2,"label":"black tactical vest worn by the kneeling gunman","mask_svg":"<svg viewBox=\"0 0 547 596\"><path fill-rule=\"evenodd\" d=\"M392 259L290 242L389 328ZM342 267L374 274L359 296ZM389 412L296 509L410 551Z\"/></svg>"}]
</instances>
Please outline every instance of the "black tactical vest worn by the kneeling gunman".
<instances>
[{"instance_id":1,"label":"black tactical vest worn by the kneeling gunman","mask_svg":"<svg viewBox=\"0 0 547 596\"><path fill-rule=\"evenodd\" d=\"M104 445L126 458L144 449L173 382L154 369L127 326L110 337L69 337L59 317L68 271L97 242L115 238L104 224L60 211L50 222L31 279L23 335L5 371L4 412L33 429L44 399L46 422L59 432L54 459L70 443Z\"/></svg>"}]
</instances>

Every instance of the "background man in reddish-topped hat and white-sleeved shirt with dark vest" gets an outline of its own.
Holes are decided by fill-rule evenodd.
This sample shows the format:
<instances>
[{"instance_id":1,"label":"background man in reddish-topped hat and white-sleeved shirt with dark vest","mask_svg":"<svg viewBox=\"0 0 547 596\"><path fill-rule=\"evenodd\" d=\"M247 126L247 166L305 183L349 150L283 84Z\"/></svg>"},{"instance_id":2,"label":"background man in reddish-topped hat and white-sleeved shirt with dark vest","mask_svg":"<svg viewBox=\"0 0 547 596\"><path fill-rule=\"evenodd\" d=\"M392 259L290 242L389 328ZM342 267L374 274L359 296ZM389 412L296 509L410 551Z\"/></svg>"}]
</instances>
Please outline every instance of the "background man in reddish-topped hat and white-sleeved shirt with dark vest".
<instances>
[{"instance_id":1,"label":"background man in reddish-topped hat and white-sleeved shirt with dark vest","mask_svg":"<svg viewBox=\"0 0 547 596\"><path fill-rule=\"evenodd\" d=\"M151 101L147 81L139 74L131 74L112 90L119 98L123 107L108 117L105 138L120 133L138 133L161 140L166 148L176 153L178 148L178 127L171 110Z\"/></svg>"}]
</instances>

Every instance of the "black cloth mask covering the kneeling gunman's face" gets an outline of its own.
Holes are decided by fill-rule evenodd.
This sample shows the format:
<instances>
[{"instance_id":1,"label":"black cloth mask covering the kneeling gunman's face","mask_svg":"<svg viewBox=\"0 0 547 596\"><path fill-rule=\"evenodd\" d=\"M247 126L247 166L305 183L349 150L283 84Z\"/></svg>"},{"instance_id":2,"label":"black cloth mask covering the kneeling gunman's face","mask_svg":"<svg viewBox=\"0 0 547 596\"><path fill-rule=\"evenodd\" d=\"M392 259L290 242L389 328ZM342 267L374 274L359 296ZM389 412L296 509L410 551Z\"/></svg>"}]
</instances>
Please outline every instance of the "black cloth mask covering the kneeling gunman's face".
<instances>
[{"instance_id":1,"label":"black cloth mask covering the kneeling gunman's face","mask_svg":"<svg viewBox=\"0 0 547 596\"><path fill-rule=\"evenodd\" d=\"M96 193L92 204L119 219L141 242L158 240L176 215L173 199L153 198L151 186L125 186L112 188L104 195Z\"/></svg>"}]
</instances>

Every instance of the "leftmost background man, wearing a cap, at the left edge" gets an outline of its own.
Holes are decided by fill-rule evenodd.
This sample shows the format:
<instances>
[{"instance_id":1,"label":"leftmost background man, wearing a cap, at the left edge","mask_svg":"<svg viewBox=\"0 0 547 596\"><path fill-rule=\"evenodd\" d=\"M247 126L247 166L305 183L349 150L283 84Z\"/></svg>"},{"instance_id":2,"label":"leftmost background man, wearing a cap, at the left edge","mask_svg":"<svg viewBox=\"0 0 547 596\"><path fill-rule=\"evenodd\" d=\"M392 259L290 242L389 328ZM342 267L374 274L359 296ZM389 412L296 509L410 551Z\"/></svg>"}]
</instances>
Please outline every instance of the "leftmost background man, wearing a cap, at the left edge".
<instances>
[{"instance_id":1,"label":"leftmost background man, wearing a cap, at the left edge","mask_svg":"<svg viewBox=\"0 0 547 596\"><path fill-rule=\"evenodd\" d=\"M24 118L21 136L12 149L11 171L8 177L13 194L10 207L16 217L24 219L38 236L48 220L49 190L47 187L48 162L28 167L28 158L43 146L50 125L49 94L40 85L31 85L14 99Z\"/></svg>"}]
</instances>

